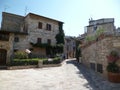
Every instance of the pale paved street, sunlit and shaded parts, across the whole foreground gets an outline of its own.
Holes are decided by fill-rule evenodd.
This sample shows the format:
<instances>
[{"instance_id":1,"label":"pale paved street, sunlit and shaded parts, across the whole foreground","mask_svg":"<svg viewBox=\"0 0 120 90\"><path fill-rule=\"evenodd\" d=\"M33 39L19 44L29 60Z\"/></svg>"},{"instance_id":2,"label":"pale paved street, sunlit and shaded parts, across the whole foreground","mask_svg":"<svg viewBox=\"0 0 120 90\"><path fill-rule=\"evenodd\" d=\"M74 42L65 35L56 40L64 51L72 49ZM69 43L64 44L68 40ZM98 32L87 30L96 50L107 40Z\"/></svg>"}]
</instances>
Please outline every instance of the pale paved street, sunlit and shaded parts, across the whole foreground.
<instances>
[{"instance_id":1,"label":"pale paved street, sunlit and shaded parts, across the whole foreground","mask_svg":"<svg viewBox=\"0 0 120 90\"><path fill-rule=\"evenodd\" d=\"M0 90L120 90L75 60L60 67L0 70Z\"/></svg>"}]
</instances>

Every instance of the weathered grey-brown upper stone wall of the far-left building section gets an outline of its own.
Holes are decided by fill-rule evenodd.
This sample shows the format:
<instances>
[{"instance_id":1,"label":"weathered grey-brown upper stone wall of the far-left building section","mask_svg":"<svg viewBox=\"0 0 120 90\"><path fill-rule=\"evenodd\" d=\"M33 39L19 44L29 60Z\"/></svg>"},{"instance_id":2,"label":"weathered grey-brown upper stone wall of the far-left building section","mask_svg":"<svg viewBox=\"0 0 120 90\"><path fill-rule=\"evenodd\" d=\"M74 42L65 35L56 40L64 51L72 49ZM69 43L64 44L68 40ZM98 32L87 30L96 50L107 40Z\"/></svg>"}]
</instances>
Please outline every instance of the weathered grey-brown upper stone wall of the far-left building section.
<instances>
[{"instance_id":1,"label":"weathered grey-brown upper stone wall of the far-left building section","mask_svg":"<svg viewBox=\"0 0 120 90\"><path fill-rule=\"evenodd\" d=\"M2 30L20 31L23 23L24 23L23 16L10 14L6 12L2 13L2 25L1 25Z\"/></svg>"}]
</instances>

